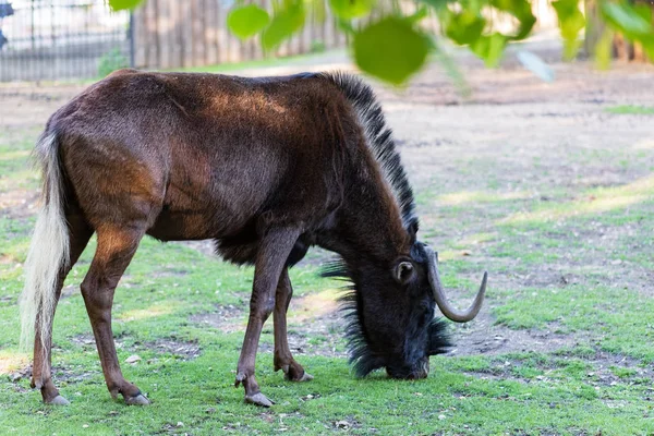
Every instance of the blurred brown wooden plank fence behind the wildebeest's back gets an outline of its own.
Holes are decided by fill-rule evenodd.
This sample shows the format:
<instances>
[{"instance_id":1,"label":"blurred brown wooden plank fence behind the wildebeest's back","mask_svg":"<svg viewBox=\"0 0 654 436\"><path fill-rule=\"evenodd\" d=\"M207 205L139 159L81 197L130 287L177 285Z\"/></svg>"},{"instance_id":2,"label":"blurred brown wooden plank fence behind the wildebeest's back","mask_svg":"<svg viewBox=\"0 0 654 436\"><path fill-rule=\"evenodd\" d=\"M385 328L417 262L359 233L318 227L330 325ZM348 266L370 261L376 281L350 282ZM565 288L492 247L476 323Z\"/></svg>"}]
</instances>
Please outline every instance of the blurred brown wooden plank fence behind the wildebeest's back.
<instances>
[{"instance_id":1,"label":"blurred brown wooden plank fence behind the wildebeest's back","mask_svg":"<svg viewBox=\"0 0 654 436\"><path fill-rule=\"evenodd\" d=\"M256 3L271 9L270 0ZM225 0L147 0L134 12L135 66L173 69L263 59L258 36L243 41L229 32L228 12ZM302 32L275 53L306 53L318 47L342 47L346 41L329 11L322 21L310 13Z\"/></svg>"}]
</instances>

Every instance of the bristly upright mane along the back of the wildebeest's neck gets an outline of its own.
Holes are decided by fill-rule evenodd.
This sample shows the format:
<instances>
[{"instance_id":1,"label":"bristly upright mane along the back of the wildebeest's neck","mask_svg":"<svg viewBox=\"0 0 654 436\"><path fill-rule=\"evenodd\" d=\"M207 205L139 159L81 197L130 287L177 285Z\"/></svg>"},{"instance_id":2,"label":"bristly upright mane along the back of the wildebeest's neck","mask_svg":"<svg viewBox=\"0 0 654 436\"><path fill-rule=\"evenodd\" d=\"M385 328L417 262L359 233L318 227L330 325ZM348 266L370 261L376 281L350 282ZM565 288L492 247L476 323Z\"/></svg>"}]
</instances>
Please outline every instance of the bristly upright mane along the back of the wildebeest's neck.
<instances>
[{"instance_id":1,"label":"bristly upright mane along the back of the wildebeest's neck","mask_svg":"<svg viewBox=\"0 0 654 436\"><path fill-rule=\"evenodd\" d=\"M356 110L367 146L400 207L404 228L417 230L413 190L400 161L400 154L396 150L392 131L386 125L382 105L373 88L352 74L335 72L320 73L319 76L337 85Z\"/></svg>"}]
</instances>

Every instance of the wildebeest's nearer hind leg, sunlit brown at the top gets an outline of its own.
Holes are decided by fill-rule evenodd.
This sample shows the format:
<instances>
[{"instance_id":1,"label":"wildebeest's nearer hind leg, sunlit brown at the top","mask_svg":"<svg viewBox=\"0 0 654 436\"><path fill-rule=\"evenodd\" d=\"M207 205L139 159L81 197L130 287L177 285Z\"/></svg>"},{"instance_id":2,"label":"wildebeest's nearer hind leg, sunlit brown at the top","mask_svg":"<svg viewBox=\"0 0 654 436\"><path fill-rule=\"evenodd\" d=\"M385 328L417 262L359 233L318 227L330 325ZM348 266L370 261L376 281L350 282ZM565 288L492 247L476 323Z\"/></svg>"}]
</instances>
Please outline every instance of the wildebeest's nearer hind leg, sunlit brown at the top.
<instances>
[{"instance_id":1,"label":"wildebeest's nearer hind leg, sunlit brown at the top","mask_svg":"<svg viewBox=\"0 0 654 436\"><path fill-rule=\"evenodd\" d=\"M147 398L136 386L125 380L120 371L111 331L113 291L134 256L145 228L102 227L96 231L98 247L82 282L82 295L90 318L107 388L112 398L121 393L128 404L147 404Z\"/></svg>"}]
</instances>

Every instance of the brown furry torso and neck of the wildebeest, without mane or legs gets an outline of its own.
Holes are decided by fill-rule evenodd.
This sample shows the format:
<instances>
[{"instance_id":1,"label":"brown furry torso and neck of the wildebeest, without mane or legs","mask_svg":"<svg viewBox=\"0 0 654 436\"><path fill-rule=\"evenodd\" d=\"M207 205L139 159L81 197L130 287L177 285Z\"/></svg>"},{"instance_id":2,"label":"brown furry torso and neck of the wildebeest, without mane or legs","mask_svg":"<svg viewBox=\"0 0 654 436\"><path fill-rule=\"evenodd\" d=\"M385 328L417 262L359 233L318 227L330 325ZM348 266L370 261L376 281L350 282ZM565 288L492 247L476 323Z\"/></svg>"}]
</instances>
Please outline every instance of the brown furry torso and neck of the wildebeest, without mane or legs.
<instances>
[{"instance_id":1,"label":"brown furry torso and neck of the wildebeest, without mane or legs","mask_svg":"<svg viewBox=\"0 0 654 436\"><path fill-rule=\"evenodd\" d=\"M334 228L346 187L360 191L354 208L371 197L395 206L350 105L319 77L121 71L59 110L49 129L93 228L146 221L162 241L221 240L237 263L254 261L257 233L270 225L312 237ZM402 234L399 220L389 225ZM408 239L397 239L388 242L404 246L380 252L408 254Z\"/></svg>"}]
</instances>

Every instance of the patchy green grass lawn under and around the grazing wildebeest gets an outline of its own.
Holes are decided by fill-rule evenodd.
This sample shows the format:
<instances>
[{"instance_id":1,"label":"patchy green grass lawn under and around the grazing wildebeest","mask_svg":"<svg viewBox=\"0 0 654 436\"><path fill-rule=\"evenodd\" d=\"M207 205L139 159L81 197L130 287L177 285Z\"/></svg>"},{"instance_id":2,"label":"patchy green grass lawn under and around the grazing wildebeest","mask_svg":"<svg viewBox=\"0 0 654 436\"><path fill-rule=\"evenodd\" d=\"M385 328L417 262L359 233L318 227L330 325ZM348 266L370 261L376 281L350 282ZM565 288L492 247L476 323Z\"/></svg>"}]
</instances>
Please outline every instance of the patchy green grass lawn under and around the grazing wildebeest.
<instances>
[{"instance_id":1,"label":"patchy green grass lawn under and around the grazing wildebeest","mask_svg":"<svg viewBox=\"0 0 654 436\"><path fill-rule=\"evenodd\" d=\"M517 191L502 182L500 166L468 160L455 165L469 186L453 186L445 173L417 186L421 234L439 242L445 284L467 289L464 299L487 268L489 331L524 340L526 351L432 358L432 374L420 382L382 372L355 379L343 356L342 324L328 316L340 284L318 278L317 262L294 268L290 331L302 343L295 358L315 379L291 384L272 372L266 325L257 378L277 401L269 410L244 404L233 387L252 269L152 239L116 292L113 330L125 377L153 403L111 400L78 291L92 241L56 317L55 379L71 400L58 408L44 405L20 376L29 355L17 346L16 300L34 225L34 210L21 199L37 187L28 166L37 135L36 129L0 133L0 198L9 198L0 208L2 435L654 434L652 148L570 156L635 174L617 185L536 178ZM534 161L533 171L547 168ZM475 323L452 326L461 343ZM558 346L548 344L554 339ZM134 354L136 363L124 363Z\"/></svg>"}]
</instances>

